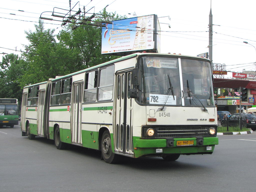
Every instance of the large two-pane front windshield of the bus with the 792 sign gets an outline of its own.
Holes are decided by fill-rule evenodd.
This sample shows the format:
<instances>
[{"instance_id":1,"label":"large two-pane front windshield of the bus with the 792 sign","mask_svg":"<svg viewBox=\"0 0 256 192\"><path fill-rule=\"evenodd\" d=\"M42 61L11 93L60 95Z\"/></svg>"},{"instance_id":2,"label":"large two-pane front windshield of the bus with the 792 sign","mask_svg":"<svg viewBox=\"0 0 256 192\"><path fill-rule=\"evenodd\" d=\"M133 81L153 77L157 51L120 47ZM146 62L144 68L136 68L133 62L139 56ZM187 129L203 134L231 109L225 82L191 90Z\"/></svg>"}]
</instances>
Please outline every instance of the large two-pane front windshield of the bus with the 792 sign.
<instances>
[{"instance_id":1,"label":"large two-pane front windshield of the bus with the 792 sign","mask_svg":"<svg viewBox=\"0 0 256 192\"><path fill-rule=\"evenodd\" d=\"M195 59L142 57L140 102L152 105L214 106L210 63Z\"/></svg>"}]
</instances>

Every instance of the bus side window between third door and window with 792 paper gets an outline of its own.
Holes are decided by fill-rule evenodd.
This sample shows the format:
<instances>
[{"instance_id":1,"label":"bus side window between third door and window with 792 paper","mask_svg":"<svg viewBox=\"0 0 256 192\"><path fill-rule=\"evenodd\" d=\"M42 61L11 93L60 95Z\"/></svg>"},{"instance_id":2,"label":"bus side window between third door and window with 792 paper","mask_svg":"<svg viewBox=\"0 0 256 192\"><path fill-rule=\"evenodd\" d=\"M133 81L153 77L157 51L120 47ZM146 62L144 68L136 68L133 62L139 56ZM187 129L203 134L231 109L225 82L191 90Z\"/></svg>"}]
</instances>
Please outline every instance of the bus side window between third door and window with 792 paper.
<instances>
[{"instance_id":1,"label":"bus side window between third door and window with 792 paper","mask_svg":"<svg viewBox=\"0 0 256 192\"><path fill-rule=\"evenodd\" d=\"M96 101L98 71L85 74L83 102Z\"/></svg>"}]
</instances>

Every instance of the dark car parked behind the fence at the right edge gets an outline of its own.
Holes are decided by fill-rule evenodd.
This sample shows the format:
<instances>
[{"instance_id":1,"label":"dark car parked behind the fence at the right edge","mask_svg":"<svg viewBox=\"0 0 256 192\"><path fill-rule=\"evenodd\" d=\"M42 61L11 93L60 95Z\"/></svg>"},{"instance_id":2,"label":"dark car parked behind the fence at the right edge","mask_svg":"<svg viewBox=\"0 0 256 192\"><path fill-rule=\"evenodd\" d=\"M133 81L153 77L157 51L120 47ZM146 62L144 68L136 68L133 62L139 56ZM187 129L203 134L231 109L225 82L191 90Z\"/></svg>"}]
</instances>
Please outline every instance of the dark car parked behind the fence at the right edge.
<instances>
[{"instance_id":1,"label":"dark car parked behind the fence at the right edge","mask_svg":"<svg viewBox=\"0 0 256 192\"><path fill-rule=\"evenodd\" d=\"M232 125L234 123L238 124L238 120L240 118L240 113L234 113L229 117L229 124ZM242 125L251 128L253 131L256 130L256 115L251 113L241 113Z\"/></svg>"}]
</instances>

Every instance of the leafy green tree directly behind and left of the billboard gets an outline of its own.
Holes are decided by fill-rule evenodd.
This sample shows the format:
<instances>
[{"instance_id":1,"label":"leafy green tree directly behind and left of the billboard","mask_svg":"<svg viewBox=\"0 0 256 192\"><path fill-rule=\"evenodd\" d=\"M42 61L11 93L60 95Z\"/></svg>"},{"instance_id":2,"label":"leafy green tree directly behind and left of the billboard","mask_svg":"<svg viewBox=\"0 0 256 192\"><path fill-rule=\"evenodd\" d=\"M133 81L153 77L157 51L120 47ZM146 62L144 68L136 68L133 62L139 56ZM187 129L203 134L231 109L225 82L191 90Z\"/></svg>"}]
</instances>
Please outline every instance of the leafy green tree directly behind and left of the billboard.
<instances>
[{"instance_id":1,"label":"leafy green tree directly behind and left of the billboard","mask_svg":"<svg viewBox=\"0 0 256 192\"><path fill-rule=\"evenodd\" d=\"M108 13L105 9L100 16L101 18L96 18L94 21L104 23L104 21L124 18L116 13ZM60 41L59 45L62 46L61 50L63 51L64 49L67 49L66 52L69 52L69 54L78 56L74 57L77 59L77 63L74 65L75 71L92 67L119 57L101 54L101 28L88 25L89 23L91 22L88 21L87 24L81 24L75 30L72 30L74 24L69 24L57 35L57 38ZM72 71L71 66L69 69Z\"/></svg>"}]
</instances>

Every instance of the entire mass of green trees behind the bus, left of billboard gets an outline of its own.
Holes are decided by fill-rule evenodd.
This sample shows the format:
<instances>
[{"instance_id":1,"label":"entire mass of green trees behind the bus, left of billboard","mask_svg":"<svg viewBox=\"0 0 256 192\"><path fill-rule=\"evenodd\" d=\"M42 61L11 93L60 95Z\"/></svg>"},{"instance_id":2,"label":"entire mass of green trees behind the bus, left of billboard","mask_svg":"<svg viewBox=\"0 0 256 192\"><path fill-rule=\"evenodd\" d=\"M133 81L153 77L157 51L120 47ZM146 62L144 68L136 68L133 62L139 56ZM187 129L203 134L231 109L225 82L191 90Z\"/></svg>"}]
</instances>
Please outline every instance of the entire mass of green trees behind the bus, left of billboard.
<instances>
[{"instance_id":1,"label":"entire mass of green trees behind the bus, left of billboard","mask_svg":"<svg viewBox=\"0 0 256 192\"><path fill-rule=\"evenodd\" d=\"M104 22L122 19L116 13L107 13L94 21ZM101 54L101 28L92 25L80 25L72 30L69 23L58 35L54 29L44 29L39 19L35 31L25 31L28 45L22 57L9 54L3 57L0 70L0 83L4 86L2 98L22 98L24 86L47 81L49 78L63 76L119 56ZM58 42L56 41L58 40Z\"/></svg>"}]
</instances>

